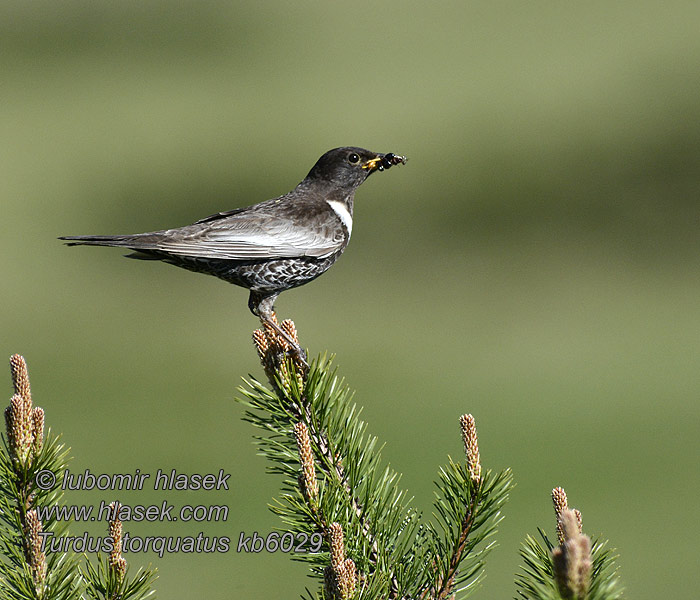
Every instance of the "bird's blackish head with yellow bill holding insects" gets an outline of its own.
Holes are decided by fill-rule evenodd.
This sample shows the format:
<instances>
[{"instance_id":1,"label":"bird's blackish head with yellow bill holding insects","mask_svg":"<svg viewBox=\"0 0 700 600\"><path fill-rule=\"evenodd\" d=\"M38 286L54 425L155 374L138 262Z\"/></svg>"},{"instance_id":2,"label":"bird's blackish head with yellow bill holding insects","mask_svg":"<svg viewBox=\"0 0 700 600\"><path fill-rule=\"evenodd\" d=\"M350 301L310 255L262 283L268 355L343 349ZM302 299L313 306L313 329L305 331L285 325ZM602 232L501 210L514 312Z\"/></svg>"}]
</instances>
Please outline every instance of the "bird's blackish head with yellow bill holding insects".
<instances>
[{"instance_id":1,"label":"bird's blackish head with yellow bill holding insects","mask_svg":"<svg viewBox=\"0 0 700 600\"><path fill-rule=\"evenodd\" d=\"M393 153L379 154L364 148L344 146L329 150L319 158L306 180L327 181L350 191L374 171L383 171L399 163L405 164L406 158Z\"/></svg>"}]
</instances>

